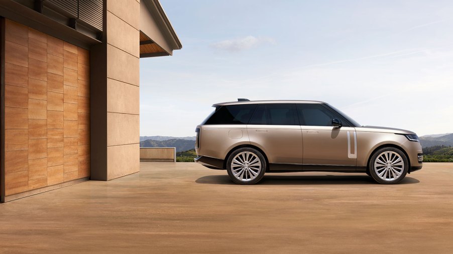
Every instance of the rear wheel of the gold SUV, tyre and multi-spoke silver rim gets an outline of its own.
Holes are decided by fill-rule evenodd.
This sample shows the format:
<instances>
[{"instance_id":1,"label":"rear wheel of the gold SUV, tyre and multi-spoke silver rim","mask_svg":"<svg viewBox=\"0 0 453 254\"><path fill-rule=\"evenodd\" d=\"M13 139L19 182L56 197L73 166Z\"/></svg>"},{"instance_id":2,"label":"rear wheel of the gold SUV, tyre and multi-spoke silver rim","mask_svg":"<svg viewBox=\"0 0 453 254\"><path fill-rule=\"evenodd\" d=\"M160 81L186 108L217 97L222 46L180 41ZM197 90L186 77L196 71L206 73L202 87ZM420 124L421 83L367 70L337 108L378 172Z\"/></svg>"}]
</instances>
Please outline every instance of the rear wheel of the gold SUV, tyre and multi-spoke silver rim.
<instances>
[{"instance_id":1,"label":"rear wheel of the gold SUV, tyre and multi-spoke silver rim","mask_svg":"<svg viewBox=\"0 0 453 254\"><path fill-rule=\"evenodd\" d=\"M256 184L263 179L266 160L256 149L239 148L228 157L227 171L231 180L237 184Z\"/></svg>"}]
</instances>

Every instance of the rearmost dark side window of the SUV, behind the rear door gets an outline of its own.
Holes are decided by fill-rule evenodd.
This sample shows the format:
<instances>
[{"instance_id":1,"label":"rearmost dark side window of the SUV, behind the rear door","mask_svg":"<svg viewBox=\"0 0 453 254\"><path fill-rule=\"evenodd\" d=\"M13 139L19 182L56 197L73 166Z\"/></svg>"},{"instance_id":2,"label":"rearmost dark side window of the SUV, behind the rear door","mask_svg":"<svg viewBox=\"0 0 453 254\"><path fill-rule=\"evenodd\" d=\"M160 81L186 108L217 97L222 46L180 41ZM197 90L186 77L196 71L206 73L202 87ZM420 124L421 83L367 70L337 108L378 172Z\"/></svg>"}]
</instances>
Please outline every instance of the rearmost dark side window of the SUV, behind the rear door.
<instances>
[{"instance_id":1,"label":"rearmost dark side window of the SUV, behind the rear door","mask_svg":"<svg viewBox=\"0 0 453 254\"><path fill-rule=\"evenodd\" d=\"M247 124L257 105L221 106L204 124Z\"/></svg>"}]
</instances>

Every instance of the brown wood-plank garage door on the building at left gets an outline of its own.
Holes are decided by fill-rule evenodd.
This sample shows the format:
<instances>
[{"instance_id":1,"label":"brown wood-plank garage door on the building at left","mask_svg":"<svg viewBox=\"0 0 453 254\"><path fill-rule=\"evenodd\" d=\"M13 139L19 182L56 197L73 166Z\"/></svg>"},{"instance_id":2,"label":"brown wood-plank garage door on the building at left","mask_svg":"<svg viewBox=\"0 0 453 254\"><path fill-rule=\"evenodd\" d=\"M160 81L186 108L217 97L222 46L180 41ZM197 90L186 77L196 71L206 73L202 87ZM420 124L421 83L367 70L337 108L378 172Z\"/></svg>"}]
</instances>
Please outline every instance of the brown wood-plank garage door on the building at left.
<instances>
[{"instance_id":1,"label":"brown wood-plank garage door on the building at left","mask_svg":"<svg viewBox=\"0 0 453 254\"><path fill-rule=\"evenodd\" d=\"M6 20L5 195L90 175L89 51Z\"/></svg>"}]
</instances>

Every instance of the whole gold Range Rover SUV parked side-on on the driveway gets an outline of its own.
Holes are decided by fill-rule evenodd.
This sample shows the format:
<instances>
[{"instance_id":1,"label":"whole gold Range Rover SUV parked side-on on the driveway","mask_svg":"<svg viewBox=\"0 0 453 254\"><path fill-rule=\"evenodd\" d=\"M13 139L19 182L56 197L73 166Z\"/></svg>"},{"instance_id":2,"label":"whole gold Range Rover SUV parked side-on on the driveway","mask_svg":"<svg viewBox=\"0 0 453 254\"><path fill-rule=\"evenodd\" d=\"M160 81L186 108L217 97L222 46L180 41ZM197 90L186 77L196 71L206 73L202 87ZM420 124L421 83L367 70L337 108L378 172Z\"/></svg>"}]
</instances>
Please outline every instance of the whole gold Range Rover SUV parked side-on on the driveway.
<instances>
[{"instance_id":1,"label":"whole gold Range Rover SUV parked side-on on the driveway","mask_svg":"<svg viewBox=\"0 0 453 254\"><path fill-rule=\"evenodd\" d=\"M195 161L226 169L238 184L297 171L363 172L394 184L422 167L414 132L361 126L324 102L238 99L213 107L196 127Z\"/></svg>"}]
</instances>

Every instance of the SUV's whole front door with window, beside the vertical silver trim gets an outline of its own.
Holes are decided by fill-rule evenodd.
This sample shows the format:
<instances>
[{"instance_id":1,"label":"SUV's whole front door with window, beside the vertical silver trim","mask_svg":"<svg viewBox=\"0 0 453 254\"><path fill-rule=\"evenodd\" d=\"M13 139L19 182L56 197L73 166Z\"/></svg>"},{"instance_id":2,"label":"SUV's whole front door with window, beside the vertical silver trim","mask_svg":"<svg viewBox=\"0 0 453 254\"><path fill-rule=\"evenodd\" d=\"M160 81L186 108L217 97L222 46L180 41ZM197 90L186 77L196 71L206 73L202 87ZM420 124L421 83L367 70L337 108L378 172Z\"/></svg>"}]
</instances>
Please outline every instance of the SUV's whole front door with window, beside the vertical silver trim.
<instances>
[{"instance_id":1,"label":"SUV's whole front door with window, beside the vertical silver trim","mask_svg":"<svg viewBox=\"0 0 453 254\"><path fill-rule=\"evenodd\" d=\"M355 170L357 136L354 127L333 127L340 115L322 104L298 104L303 138L303 170Z\"/></svg>"}]
</instances>

